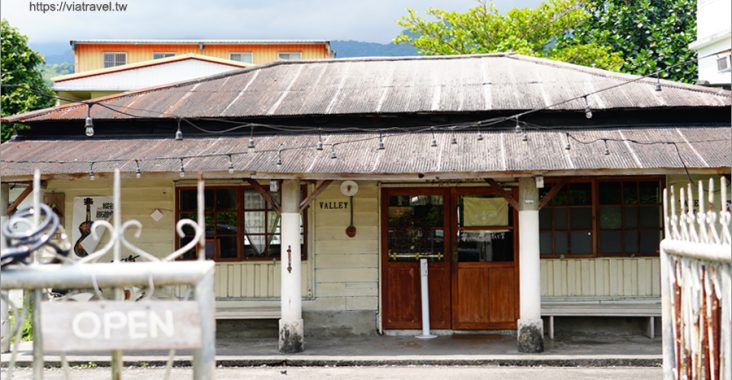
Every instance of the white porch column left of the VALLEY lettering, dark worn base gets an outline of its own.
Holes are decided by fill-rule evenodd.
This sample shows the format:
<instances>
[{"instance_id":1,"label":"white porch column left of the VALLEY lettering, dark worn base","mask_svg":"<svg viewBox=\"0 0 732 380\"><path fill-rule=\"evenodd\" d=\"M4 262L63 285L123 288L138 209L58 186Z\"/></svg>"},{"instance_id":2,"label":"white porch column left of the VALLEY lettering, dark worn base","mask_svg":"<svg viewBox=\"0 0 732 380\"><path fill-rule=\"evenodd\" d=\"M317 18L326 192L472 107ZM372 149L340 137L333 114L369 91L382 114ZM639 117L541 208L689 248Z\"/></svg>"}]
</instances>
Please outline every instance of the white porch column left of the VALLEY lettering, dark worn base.
<instances>
[{"instance_id":1,"label":"white porch column left of the VALLEY lettering, dark worn base","mask_svg":"<svg viewBox=\"0 0 732 380\"><path fill-rule=\"evenodd\" d=\"M279 348L282 353L302 352L302 291L300 272L300 181L282 181L280 250L281 281Z\"/></svg>"}]
</instances>

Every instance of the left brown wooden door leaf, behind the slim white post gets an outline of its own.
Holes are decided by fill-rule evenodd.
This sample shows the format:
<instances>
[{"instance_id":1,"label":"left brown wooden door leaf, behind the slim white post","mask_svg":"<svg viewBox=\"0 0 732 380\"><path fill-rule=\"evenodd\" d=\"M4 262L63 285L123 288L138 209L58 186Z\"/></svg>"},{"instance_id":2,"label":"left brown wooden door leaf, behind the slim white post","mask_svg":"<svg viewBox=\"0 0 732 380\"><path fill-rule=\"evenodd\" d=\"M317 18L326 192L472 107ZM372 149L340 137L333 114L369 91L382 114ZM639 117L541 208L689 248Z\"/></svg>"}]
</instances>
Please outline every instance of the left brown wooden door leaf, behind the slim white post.
<instances>
[{"instance_id":1,"label":"left brown wooden door leaf, behind the slim white post","mask_svg":"<svg viewBox=\"0 0 732 380\"><path fill-rule=\"evenodd\" d=\"M451 327L449 190L384 189L382 323L385 329L422 327L419 257L429 260L430 325Z\"/></svg>"}]
</instances>

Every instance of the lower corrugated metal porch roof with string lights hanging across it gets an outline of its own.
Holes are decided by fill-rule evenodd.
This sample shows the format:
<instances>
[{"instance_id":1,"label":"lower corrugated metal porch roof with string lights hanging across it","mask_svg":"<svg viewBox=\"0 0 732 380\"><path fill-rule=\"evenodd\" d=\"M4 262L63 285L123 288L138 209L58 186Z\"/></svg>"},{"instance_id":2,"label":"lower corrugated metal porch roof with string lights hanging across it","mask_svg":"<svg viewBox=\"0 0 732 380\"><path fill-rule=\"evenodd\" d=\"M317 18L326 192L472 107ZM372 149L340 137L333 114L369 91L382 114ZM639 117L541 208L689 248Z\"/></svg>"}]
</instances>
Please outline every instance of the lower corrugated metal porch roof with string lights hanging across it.
<instances>
[{"instance_id":1,"label":"lower corrugated metal porch roof with string lights hanging across it","mask_svg":"<svg viewBox=\"0 0 732 380\"><path fill-rule=\"evenodd\" d=\"M540 130L523 135L513 131L484 131L483 140L476 132L458 132L457 144L452 134L437 132L437 146L432 147L431 133L390 135L384 138L385 150L378 150L379 134L323 135L325 149L315 146L318 135L262 136L256 149L247 151L248 137L186 138L182 141L149 139L18 140L0 146L2 173L25 176L39 168L43 173L86 174L88 162L96 162L96 172L114 167L133 172L134 160L140 160L143 172L177 172L180 157L188 172L220 172L226 175L229 153L237 171L260 175L299 175L303 178L424 174L475 178L481 173L604 171L649 172L665 169L728 168L732 162L729 127L645 127L603 130L571 130L571 149L566 150L566 130ZM598 140L599 139L599 140ZM608 141L605 155L602 139ZM578 141L589 142L581 144ZM630 143L615 140L637 140ZM649 142L675 142L673 145ZM340 143L340 144L339 144ZM282 165L277 151L282 144ZM335 145L336 159L331 159L330 144ZM246 153L244 153L246 152ZM213 156L218 155L218 156ZM169 158L169 159L161 159ZM32 162L20 163L8 161ZM50 163L44 161L65 161ZM416 178L416 177L415 177Z\"/></svg>"}]
</instances>

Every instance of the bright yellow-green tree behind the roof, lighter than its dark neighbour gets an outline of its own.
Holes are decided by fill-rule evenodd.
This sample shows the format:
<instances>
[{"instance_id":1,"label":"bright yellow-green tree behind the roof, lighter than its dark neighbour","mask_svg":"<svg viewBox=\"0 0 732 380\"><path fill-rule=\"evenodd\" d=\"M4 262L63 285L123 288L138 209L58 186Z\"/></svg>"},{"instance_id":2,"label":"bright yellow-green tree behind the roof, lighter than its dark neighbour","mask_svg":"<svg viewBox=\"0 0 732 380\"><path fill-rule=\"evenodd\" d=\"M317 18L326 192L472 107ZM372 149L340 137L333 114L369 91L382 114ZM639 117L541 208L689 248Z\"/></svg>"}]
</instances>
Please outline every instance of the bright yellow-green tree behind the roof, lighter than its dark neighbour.
<instances>
[{"instance_id":1,"label":"bright yellow-green tree behind the roof, lighter than its dark neighbour","mask_svg":"<svg viewBox=\"0 0 732 380\"><path fill-rule=\"evenodd\" d=\"M505 16L486 2L465 13L429 8L435 20L417 16L414 9L397 23L406 28L395 43L411 43L420 53L481 54L513 51L561 61L618 70L621 55L596 41L574 41L557 45L559 40L591 19L583 0L549 0L536 9L514 8Z\"/></svg>"}]
</instances>

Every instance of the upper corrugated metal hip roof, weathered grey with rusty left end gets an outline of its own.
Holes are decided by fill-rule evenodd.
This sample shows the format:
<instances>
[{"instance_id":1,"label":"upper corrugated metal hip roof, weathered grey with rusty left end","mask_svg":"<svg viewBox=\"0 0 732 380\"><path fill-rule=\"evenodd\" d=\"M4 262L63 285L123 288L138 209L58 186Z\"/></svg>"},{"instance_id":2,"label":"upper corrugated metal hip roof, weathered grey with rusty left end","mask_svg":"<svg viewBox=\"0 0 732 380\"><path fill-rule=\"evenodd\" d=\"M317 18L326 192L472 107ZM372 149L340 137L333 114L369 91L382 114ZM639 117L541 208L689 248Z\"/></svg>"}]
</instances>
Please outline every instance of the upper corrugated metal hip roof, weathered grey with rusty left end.
<instances>
[{"instance_id":1,"label":"upper corrugated metal hip roof, weathered grey with rusty left end","mask_svg":"<svg viewBox=\"0 0 732 380\"><path fill-rule=\"evenodd\" d=\"M146 118L514 111L547 107L637 76L515 54L276 62L99 102ZM642 79L587 97L593 110L729 106L730 92ZM584 110L574 100L552 110ZM69 104L8 121L84 119ZM95 119L124 119L93 107Z\"/></svg>"}]
</instances>

